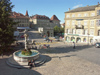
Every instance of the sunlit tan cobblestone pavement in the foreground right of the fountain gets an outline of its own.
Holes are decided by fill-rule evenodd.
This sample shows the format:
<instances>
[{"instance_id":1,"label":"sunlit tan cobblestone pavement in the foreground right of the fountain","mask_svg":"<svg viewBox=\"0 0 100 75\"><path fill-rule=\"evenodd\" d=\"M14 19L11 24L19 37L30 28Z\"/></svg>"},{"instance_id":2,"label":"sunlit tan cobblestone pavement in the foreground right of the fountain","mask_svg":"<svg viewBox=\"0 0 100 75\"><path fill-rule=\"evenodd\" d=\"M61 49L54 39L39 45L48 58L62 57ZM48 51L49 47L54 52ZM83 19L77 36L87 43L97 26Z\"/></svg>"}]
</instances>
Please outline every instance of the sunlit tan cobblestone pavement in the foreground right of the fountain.
<instances>
[{"instance_id":1,"label":"sunlit tan cobblestone pavement in the foreground right of the fountain","mask_svg":"<svg viewBox=\"0 0 100 75\"><path fill-rule=\"evenodd\" d=\"M52 60L36 68L42 75L99 75L100 66L69 54L48 54Z\"/></svg>"}]
</instances>

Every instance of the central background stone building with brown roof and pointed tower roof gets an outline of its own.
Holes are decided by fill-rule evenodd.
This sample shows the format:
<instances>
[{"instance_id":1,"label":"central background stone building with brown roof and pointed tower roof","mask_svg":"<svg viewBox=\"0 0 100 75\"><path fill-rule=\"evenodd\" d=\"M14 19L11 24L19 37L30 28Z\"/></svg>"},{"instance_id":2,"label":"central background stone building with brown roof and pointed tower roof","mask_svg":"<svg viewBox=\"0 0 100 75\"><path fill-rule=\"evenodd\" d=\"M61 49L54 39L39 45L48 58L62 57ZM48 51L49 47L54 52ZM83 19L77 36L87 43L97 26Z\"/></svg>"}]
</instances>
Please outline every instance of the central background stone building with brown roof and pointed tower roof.
<instances>
[{"instance_id":1,"label":"central background stone building with brown roof and pointed tower roof","mask_svg":"<svg viewBox=\"0 0 100 75\"><path fill-rule=\"evenodd\" d=\"M31 27L38 29L39 27L50 27L54 28L54 26L60 27L60 20L53 15L51 19L45 15L34 15L30 17Z\"/></svg>"}]
</instances>

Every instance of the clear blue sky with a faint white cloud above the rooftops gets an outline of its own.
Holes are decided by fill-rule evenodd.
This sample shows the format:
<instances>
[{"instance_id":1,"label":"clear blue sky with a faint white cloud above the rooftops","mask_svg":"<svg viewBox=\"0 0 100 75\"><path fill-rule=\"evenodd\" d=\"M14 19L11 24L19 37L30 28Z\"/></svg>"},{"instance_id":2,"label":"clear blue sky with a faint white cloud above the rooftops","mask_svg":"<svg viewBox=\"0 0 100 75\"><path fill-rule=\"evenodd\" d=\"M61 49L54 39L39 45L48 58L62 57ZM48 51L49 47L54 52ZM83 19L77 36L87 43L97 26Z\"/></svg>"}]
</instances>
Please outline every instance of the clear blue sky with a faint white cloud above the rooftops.
<instances>
[{"instance_id":1,"label":"clear blue sky with a faint white cloud above the rooftops","mask_svg":"<svg viewBox=\"0 0 100 75\"><path fill-rule=\"evenodd\" d=\"M46 15L51 18L56 15L60 20L60 23L64 23L65 12L84 6L97 5L99 0L10 0L12 5L15 5L12 9L15 12L19 12L25 15L26 10L29 16L38 14Z\"/></svg>"}]
</instances>

